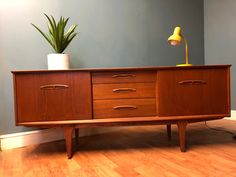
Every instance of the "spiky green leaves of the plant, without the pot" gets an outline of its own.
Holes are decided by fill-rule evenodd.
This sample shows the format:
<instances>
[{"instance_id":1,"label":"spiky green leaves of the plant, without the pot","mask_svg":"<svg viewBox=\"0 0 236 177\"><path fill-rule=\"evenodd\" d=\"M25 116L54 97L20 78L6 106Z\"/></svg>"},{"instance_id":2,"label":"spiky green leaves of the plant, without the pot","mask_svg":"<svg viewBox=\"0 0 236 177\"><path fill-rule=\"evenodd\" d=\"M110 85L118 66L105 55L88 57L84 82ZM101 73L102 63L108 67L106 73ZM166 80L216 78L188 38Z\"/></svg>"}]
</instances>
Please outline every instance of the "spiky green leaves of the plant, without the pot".
<instances>
[{"instance_id":1,"label":"spiky green leaves of the plant, without the pot","mask_svg":"<svg viewBox=\"0 0 236 177\"><path fill-rule=\"evenodd\" d=\"M65 28L69 18L65 19L63 17L60 17L60 20L56 22L52 15L50 17L47 14L44 15L46 16L48 21L48 33L44 33L36 25L34 25L33 23L31 24L43 35L43 37L49 42L56 53L62 53L68 47L74 37L78 34L75 32L75 29L78 25L72 25L65 32Z\"/></svg>"}]
</instances>

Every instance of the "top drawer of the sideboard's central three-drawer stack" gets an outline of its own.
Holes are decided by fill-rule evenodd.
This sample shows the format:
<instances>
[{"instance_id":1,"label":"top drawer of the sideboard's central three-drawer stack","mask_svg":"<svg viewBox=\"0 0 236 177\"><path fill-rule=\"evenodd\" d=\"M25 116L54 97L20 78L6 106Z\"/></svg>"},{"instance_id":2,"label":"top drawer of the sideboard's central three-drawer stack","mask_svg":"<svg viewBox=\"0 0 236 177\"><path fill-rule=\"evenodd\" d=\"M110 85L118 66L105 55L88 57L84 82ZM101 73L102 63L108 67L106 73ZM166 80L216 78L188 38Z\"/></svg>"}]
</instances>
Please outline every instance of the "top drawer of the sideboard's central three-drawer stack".
<instances>
[{"instance_id":1,"label":"top drawer of the sideboard's central three-drawer stack","mask_svg":"<svg viewBox=\"0 0 236 177\"><path fill-rule=\"evenodd\" d=\"M156 71L94 72L92 82L93 84L156 82Z\"/></svg>"}]
</instances>

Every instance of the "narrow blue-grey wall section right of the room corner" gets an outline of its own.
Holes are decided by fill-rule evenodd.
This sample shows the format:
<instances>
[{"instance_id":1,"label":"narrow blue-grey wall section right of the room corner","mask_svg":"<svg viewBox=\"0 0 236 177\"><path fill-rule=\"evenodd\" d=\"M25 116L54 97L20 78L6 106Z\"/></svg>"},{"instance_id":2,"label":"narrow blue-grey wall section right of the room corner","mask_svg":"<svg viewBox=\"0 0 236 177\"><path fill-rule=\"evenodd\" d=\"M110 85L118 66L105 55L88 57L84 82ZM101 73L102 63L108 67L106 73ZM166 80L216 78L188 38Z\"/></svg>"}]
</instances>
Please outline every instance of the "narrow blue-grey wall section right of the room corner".
<instances>
[{"instance_id":1,"label":"narrow blue-grey wall section right of the room corner","mask_svg":"<svg viewBox=\"0 0 236 177\"><path fill-rule=\"evenodd\" d=\"M236 1L205 0L205 63L232 64L231 102L236 109Z\"/></svg>"}]
</instances>

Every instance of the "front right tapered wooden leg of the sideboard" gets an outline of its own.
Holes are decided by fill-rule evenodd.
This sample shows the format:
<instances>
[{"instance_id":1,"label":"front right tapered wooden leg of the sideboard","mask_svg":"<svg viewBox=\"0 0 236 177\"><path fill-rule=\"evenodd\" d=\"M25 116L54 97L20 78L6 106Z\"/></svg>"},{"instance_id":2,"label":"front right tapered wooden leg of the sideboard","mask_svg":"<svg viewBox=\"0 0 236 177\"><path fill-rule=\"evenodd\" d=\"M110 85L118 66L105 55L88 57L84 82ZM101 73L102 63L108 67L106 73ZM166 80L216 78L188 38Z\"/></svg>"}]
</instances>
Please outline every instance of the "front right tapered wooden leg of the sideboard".
<instances>
[{"instance_id":1,"label":"front right tapered wooden leg of the sideboard","mask_svg":"<svg viewBox=\"0 0 236 177\"><path fill-rule=\"evenodd\" d=\"M182 152L186 151L186 121L177 122L177 126L179 129L179 146Z\"/></svg>"}]
</instances>

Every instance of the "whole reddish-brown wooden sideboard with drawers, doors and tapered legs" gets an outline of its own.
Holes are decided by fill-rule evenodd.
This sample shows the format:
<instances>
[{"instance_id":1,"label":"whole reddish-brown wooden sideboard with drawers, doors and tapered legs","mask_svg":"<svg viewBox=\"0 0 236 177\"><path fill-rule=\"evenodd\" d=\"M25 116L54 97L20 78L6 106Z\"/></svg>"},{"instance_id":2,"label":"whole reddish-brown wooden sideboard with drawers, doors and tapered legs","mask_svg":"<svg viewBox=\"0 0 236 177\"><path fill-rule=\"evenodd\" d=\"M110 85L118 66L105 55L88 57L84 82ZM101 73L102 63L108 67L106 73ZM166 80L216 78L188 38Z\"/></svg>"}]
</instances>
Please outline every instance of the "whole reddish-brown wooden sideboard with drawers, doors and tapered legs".
<instances>
[{"instance_id":1,"label":"whole reddish-brown wooden sideboard with drawers, doors and tapered legs","mask_svg":"<svg viewBox=\"0 0 236 177\"><path fill-rule=\"evenodd\" d=\"M63 127L68 158L79 128L177 124L230 116L230 65L12 71L16 125Z\"/></svg>"}]
</instances>

